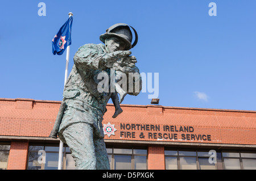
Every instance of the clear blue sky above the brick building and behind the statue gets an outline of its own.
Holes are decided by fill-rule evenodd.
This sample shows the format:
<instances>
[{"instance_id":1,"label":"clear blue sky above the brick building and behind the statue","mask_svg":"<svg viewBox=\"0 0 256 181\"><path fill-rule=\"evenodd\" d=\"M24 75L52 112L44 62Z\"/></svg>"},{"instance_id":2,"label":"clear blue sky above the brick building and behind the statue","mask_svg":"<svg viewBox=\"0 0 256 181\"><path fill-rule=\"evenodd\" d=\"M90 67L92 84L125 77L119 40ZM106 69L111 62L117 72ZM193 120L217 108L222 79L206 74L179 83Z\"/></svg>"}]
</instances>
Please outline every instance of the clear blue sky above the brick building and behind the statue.
<instances>
[{"instance_id":1,"label":"clear blue sky above the brick building and behind the statue","mask_svg":"<svg viewBox=\"0 0 256 181\"><path fill-rule=\"evenodd\" d=\"M209 16L210 2L217 16ZM131 49L138 68L159 73L160 105L256 110L255 9L254 0L2 1L0 97L63 98L65 53L54 56L51 40L73 12L69 72L81 45L126 23L139 35ZM123 104L150 104L148 94Z\"/></svg>"}]
</instances>

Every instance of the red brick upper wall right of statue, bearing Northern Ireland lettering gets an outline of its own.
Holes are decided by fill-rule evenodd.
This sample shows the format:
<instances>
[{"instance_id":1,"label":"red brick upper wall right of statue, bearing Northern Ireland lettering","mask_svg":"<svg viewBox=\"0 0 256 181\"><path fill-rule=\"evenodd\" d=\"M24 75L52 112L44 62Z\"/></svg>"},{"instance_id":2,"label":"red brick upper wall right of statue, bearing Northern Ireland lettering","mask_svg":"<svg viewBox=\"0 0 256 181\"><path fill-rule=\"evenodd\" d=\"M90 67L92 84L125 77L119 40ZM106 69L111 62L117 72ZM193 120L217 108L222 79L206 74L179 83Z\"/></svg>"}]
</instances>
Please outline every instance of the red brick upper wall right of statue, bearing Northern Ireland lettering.
<instances>
[{"instance_id":1,"label":"red brick upper wall right of statue, bearing Northern Ireland lettering","mask_svg":"<svg viewBox=\"0 0 256 181\"><path fill-rule=\"evenodd\" d=\"M114 107L108 106L108 112L104 116L104 124L108 122L114 124L117 131L115 136L105 137L105 139L256 145L256 111L151 105L123 105L122 109L122 114L112 119ZM121 124L127 124L129 127L123 129ZM135 127L133 127L134 124ZM149 127L142 129L137 124L146 127L148 125ZM153 125L152 128L151 125ZM154 129L155 125L158 125L160 130ZM166 125L169 127L168 130L164 130ZM173 128L176 126L177 131L171 130L172 126ZM193 132L179 131L180 127L183 129L184 127L192 127Z\"/></svg>"}]
</instances>

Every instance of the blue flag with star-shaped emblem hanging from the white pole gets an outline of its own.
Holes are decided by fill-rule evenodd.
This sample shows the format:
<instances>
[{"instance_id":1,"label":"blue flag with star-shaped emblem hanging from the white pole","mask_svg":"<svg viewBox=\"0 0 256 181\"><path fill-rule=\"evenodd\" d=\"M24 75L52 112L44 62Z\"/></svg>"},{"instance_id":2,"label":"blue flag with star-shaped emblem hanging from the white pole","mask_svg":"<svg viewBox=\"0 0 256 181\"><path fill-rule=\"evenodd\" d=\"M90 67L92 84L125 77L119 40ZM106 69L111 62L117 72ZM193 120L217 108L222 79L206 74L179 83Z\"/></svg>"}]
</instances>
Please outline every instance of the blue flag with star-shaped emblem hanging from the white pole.
<instances>
[{"instance_id":1,"label":"blue flag with star-shaped emblem hanging from the white pole","mask_svg":"<svg viewBox=\"0 0 256 181\"><path fill-rule=\"evenodd\" d=\"M59 32L52 39L52 53L63 54L68 45L71 45L71 29L73 16L70 16L67 22L63 24Z\"/></svg>"}]
</instances>

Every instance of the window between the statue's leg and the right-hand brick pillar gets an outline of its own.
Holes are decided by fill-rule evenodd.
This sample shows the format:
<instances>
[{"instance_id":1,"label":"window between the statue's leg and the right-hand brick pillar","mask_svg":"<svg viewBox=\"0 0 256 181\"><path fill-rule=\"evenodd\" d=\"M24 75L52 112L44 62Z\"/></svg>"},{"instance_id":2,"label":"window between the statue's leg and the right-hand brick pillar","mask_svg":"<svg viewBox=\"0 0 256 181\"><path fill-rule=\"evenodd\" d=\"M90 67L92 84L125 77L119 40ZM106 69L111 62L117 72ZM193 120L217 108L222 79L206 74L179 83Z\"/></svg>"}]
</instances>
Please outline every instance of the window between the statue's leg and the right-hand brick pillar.
<instances>
[{"instance_id":1,"label":"window between the statue's leg and the right-hand brick pillar","mask_svg":"<svg viewBox=\"0 0 256 181\"><path fill-rule=\"evenodd\" d=\"M107 148L110 169L112 170L146 170L146 149Z\"/></svg>"}]
</instances>

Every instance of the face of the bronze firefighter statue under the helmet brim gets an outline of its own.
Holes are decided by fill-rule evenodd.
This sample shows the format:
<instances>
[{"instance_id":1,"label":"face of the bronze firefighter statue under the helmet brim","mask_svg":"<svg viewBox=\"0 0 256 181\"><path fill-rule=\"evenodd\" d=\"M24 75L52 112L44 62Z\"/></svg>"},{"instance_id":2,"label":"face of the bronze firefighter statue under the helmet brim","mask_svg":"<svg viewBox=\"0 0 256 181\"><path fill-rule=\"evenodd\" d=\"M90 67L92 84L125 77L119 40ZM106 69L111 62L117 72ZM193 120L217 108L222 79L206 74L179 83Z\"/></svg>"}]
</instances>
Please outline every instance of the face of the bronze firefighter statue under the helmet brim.
<instances>
[{"instance_id":1,"label":"face of the bronze firefighter statue under the helmet brim","mask_svg":"<svg viewBox=\"0 0 256 181\"><path fill-rule=\"evenodd\" d=\"M125 50L125 43L115 37L110 37L110 39L105 40L105 47L108 53L112 53L118 50Z\"/></svg>"}]
</instances>

